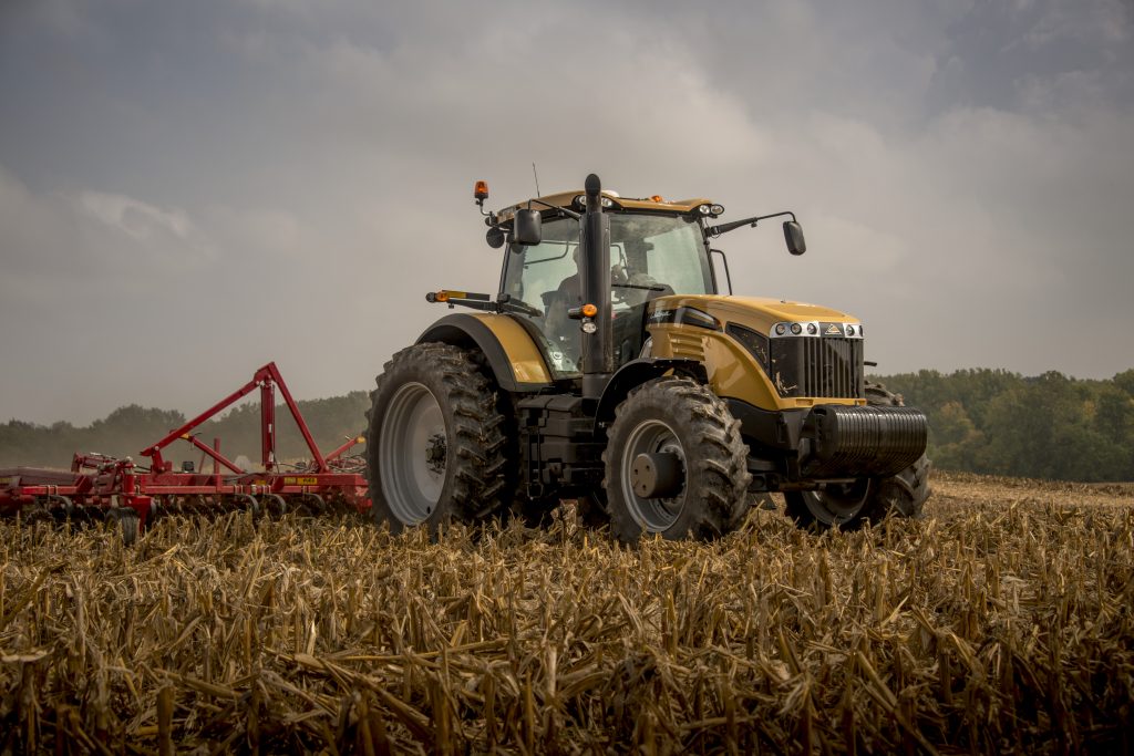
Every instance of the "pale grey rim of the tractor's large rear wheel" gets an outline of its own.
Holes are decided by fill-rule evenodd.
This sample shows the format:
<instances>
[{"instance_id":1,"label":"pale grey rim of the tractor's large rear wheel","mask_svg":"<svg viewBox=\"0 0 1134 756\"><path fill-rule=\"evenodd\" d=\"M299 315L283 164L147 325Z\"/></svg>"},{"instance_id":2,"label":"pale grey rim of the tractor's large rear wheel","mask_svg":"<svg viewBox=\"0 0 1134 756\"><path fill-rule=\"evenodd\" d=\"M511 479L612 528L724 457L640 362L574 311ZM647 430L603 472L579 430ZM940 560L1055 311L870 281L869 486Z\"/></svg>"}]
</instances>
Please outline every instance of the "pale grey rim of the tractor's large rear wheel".
<instances>
[{"instance_id":1,"label":"pale grey rim of the tractor's large rear wheel","mask_svg":"<svg viewBox=\"0 0 1134 756\"><path fill-rule=\"evenodd\" d=\"M406 383L395 392L379 444L390 511L406 525L426 520L441 499L449 456L445 415L428 388Z\"/></svg>"}]
</instances>

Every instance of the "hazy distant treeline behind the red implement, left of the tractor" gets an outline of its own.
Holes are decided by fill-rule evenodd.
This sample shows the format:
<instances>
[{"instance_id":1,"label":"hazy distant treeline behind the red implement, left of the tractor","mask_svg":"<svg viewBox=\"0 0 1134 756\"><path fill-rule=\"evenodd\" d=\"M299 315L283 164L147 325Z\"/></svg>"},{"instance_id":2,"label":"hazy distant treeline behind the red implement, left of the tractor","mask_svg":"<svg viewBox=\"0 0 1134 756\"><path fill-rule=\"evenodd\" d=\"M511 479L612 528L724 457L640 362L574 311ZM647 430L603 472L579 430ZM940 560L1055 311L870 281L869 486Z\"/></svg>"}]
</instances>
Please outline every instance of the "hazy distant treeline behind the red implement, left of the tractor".
<instances>
[{"instance_id":1,"label":"hazy distant treeline behind the red implement, left of the tractor","mask_svg":"<svg viewBox=\"0 0 1134 756\"><path fill-rule=\"evenodd\" d=\"M346 438L364 430L370 398L363 391L345 397L297 401L315 443L323 453L340 445ZM50 426L10 421L0 425L0 468L17 466L70 466L73 455L99 452L112 457L133 457L144 465L147 459L138 455L142 449L159 441L185 423L186 416L168 409L144 408L137 405L120 407L105 419L88 426L56 423ZM308 459L303 436L284 405L276 408L276 447L280 460ZM221 440L221 453L236 460L247 457L253 466L260 462L260 402L251 401L235 407L221 418L205 423L194 431L197 439L212 447ZM361 453L356 447L348 453ZM175 441L163 456L180 468L181 461L193 461L201 469L202 453L185 441ZM206 460L204 469L212 469Z\"/></svg>"}]
</instances>

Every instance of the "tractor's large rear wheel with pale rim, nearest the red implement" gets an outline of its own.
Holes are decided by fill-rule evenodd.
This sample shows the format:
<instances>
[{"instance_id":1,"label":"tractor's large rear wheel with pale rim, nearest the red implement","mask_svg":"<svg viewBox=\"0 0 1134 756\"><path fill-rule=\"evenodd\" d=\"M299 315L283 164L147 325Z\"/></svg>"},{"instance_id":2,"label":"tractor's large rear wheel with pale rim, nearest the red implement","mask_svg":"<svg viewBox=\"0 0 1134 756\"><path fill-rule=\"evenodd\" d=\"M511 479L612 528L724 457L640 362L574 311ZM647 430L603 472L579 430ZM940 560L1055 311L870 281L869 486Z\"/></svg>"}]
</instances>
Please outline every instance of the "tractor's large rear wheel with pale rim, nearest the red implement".
<instances>
[{"instance_id":1,"label":"tractor's large rear wheel with pale rim, nearest the red implement","mask_svg":"<svg viewBox=\"0 0 1134 756\"><path fill-rule=\"evenodd\" d=\"M403 349L371 393L366 438L373 513L392 533L474 521L503 499L503 416L475 355L445 343Z\"/></svg>"}]
</instances>

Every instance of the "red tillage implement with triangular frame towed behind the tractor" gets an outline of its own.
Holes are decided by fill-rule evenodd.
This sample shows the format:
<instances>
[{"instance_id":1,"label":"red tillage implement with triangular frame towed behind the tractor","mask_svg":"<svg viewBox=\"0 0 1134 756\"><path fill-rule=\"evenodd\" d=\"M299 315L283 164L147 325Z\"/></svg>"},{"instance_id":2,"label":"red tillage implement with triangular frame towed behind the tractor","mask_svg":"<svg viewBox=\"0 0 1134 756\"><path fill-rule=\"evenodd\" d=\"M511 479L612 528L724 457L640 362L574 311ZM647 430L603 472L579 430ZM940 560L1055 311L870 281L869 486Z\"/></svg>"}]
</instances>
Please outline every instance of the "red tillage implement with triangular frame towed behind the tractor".
<instances>
[{"instance_id":1,"label":"red tillage implement with triangular frame towed behind the tractor","mask_svg":"<svg viewBox=\"0 0 1134 756\"><path fill-rule=\"evenodd\" d=\"M276 458L276 389L307 445L311 459L284 470ZM202 443L192 431L232 404L260 389L260 430L262 472L242 469L220 452L219 441ZM186 441L213 460L213 472L174 472L162 450L175 441ZM149 467L135 465L129 457L115 459L103 455L75 455L70 473L19 467L0 470L0 512L19 512L27 519L102 517L121 523L122 538L133 543L138 529L167 512L197 510L271 509L284 512L306 508L366 511L364 462L345 457L361 436L323 455L291 398L276 363L264 365L252 380L228 397L197 415L176 431L142 451ZM223 472L222 472L223 469Z\"/></svg>"}]
</instances>

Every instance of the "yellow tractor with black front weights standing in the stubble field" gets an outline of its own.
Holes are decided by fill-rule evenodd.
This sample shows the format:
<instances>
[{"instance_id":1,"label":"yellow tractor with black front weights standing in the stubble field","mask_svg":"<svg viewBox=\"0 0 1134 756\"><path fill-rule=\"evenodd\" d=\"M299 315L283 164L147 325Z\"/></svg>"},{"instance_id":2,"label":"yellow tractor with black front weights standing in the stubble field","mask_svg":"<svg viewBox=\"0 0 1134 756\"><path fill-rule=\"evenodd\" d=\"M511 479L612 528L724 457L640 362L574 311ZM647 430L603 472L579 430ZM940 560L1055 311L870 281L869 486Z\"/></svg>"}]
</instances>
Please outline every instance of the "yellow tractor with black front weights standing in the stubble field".
<instances>
[{"instance_id":1,"label":"yellow tractor with black front weights standing in the stubble field","mask_svg":"<svg viewBox=\"0 0 1134 756\"><path fill-rule=\"evenodd\" d=\"M803 254L794 213L718 223L710 199L631 199L594 175L499 212L483 181L474 197L505 248L499 292L428 294L475 312L437 321L378 376L379 523L437 528L574 499L625 541L712 538L770 492L803 526L920 516L925 416L865 382L862 322L731 296L710 247L784 216Z\"/></svg>"}]
</instances>

